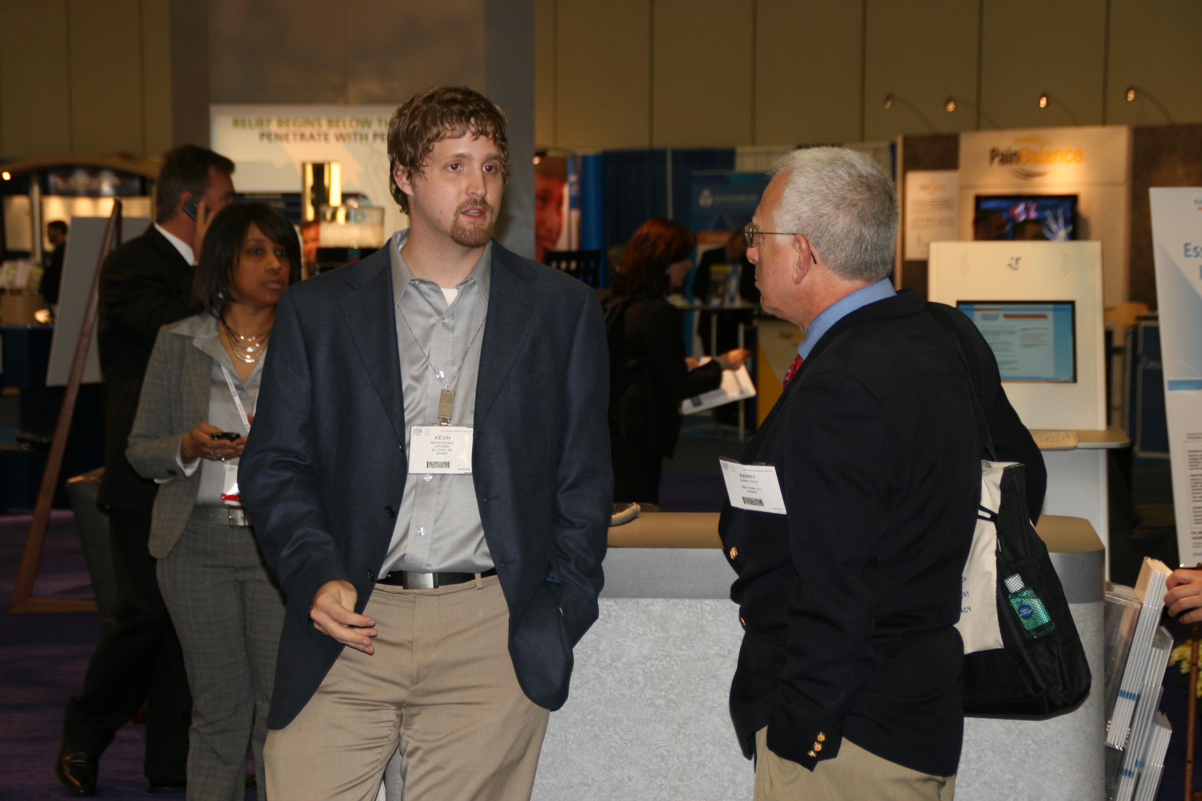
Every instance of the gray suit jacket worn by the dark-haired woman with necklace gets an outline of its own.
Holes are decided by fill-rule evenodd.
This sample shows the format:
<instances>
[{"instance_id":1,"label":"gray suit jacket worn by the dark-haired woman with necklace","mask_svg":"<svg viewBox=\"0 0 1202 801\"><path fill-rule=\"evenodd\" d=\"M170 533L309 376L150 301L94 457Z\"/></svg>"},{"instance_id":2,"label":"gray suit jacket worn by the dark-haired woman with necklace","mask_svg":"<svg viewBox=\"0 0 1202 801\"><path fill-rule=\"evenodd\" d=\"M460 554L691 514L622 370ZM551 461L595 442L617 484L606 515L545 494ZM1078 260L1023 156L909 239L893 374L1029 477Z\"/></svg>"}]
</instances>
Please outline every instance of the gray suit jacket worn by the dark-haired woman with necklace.
<instances>
[{"instance_id":1,"label":"gray suit jacket worn by the dark-haired woman with necklace","mask_svg":"<svg viewBox=\"0 0 1202 801\"><path fill-rule=\"evenodd\" d=\"M201 471L184 476L175 455L184 435L209 418L213 358L192 345L188 323L159 329L125 458L143 478L159 483L150 521L150 556L165 558L184 533L196 506Z\"/></svg>"}]
</instances>

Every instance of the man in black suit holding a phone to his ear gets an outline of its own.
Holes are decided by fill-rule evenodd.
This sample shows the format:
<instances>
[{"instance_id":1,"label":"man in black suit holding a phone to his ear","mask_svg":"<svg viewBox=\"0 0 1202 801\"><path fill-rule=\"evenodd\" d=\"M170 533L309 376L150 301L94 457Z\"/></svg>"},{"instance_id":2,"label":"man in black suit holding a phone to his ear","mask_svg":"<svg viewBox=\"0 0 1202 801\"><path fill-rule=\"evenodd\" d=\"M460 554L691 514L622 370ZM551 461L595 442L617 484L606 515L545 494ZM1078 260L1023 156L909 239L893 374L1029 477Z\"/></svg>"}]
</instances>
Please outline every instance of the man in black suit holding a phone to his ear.
<instances>
[{"instance_id":1,"label":"man in black suit holding a phone to his ear","mask_svg":"<svg viewBox=\"0 0 1202 801\"><path fill-rule=\"evenodd\" d=\"M97 346L105 376L105 478L117 606L96 646L83 693L67 703L54 771L75 795L93 795L100 754L148 700L145 775L150 791L185 782L191 695L179 640L147 549L156 485L125 460L126 440L159 328L191 313L192 273L212 215L233 199L233 162L182 145L163 159L155 222L101 268Z\"/></svg>"}]
</instances>

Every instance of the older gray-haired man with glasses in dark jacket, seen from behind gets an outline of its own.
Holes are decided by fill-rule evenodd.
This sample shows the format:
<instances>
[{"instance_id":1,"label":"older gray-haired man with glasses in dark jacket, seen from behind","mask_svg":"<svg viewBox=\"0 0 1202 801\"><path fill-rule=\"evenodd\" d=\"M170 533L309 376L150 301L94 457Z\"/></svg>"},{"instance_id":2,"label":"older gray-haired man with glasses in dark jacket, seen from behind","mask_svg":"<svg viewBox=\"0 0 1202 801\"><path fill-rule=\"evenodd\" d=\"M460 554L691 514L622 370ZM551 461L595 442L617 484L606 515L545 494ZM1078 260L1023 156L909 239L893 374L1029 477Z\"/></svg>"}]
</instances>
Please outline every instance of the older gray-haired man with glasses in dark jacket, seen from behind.
<instances>
[{"instance_id":1,"label":"older gray-haired man with glasses in dark jacket, seen from behind","mask_svg":"<svg viewBox=\"0 0 1202 801\"><path fill-rule=\"evenodd\" d=\"M981 468L968 381L933 315L962 343L999 458L1031 467L1033 515L1042 461L968 317L894 292L889 175L841 148L773 173L748 258L763 307L805 339L722 510L746 630L731 713L757 801L947 801Z\"/></svg>"}]
</instances>

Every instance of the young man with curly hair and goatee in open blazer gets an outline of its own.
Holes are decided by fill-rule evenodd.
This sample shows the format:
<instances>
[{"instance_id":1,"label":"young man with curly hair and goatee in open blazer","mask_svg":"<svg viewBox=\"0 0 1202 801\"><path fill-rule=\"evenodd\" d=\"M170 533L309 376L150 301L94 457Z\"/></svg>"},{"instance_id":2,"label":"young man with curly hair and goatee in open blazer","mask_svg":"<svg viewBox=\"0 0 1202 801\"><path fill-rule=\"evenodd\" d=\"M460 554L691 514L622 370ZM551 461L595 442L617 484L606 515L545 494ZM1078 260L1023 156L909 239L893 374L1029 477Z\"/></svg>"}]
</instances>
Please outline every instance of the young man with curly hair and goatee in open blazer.
<instances>
[{"instance_id":1,"label":"young man with curly hair and goatee in open blazer","mask_svg":"<svg viewBox=\"0 0 1202 801\"><path fill-rule=\"evenodd\" d=\"M601 306L492 238L492 101L417 94L388 157L410 228L285 293L239 468L288 597L267 791L375 799L399 746L406 801L529 799L602 585Z\"/></svg>"}]
</instances>

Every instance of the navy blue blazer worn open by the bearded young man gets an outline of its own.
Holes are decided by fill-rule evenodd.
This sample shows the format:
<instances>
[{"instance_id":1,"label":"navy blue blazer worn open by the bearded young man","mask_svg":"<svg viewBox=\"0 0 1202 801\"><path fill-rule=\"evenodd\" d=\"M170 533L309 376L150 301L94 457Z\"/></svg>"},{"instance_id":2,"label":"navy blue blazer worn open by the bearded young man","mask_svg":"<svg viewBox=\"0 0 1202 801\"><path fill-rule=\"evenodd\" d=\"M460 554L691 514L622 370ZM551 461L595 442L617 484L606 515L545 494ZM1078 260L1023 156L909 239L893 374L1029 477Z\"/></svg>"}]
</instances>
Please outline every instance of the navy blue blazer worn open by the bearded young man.
<instances>
[{"instance_id":1,"label":"navy blue blazer worn open by the bearded young man","mask_svg":"<svg viewBox=\"0 0 1202 801\"><path fill-rule=\"evenodd\" d=\"M555 710L603 584L613 494L605 323L584 283L496 243L492 270L476 501L510 609L518 682ZM344 647L309 620L317 590L350 581L359 612L371 594L405 486L404 431L392 269L381 249L284 294L238 471L255 534L288 596L273 729L304 707Z\"/></svg>"}]
</instances>

